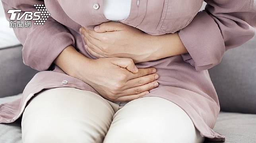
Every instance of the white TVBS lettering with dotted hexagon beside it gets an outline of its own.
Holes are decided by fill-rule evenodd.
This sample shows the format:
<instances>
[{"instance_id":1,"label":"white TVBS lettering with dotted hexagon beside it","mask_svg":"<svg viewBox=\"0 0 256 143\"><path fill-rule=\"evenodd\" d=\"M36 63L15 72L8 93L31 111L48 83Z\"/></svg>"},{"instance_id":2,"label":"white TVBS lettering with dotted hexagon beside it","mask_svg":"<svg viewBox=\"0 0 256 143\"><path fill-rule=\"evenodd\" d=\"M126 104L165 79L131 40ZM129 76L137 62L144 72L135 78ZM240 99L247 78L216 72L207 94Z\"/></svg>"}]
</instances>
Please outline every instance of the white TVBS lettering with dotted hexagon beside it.
<instances>
[{"instance_id":1,"label":"white TVBS lettering with dotted hexagon beside it","mask_svg":"<svg viewBox=\"0 0 256 143\"><path fill-rule=\"evenodd\" d=\"M22 11L21 9L9 9L7 13L11 14L10 25L11 22L14 23L16 21L21 23L21 19L26 22L35 21L35 25L43 25L50 17L50 13L43 4L35 4L34 7L36 9L34 12Z\"/></svg>"}]
</instances>

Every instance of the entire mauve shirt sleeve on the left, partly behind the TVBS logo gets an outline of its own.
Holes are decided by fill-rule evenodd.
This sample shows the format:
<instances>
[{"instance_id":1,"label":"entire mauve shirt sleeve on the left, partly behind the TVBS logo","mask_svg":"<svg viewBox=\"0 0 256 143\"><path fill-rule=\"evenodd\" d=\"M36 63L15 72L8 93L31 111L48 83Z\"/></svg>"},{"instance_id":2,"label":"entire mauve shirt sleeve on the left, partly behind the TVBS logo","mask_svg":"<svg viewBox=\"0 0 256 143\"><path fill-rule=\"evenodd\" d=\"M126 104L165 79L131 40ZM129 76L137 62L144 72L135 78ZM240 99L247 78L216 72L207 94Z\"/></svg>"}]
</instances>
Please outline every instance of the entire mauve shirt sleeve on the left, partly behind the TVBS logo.
<instances>
[{"instance_id":1,"label":"entire mauve shirt sleeve on the left, partly behind the TVBS logo","mask_svg":"<svg viewBox=\"0 0 256 143\"><path fill-rule=\"evenodd\" d=\"M9 9L21 9L35 12L34 4L44 4L41 0L2 0L6 19L10 21ZM31 68L47 70L55 58L75 40L69 30L62 24L49 17L43 25L31 28L13 28L18 40L23 45L23 62Z\"/></svg>"}]
</instances>

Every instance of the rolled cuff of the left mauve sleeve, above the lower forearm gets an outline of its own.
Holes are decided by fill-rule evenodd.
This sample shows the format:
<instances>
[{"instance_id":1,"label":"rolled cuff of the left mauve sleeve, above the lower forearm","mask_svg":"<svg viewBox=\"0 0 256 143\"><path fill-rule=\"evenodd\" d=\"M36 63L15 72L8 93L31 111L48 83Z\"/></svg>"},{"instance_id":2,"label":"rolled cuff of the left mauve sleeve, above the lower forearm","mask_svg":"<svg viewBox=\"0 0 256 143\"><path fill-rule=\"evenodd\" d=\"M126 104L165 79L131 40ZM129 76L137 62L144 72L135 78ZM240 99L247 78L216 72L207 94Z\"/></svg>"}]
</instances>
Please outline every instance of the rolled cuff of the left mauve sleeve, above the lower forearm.
<instances>
[{"instance_id":1,"label":"rolled cuff of the left mauve sleeve, above the lower forearm","mask_svg":"<svg viewBox=\"0 0 256 143\"><path fill-rule=\"evenodd\" d=\"M48 22L27 35L23 44L23 62L31 68L47 70L57 56L75 43L74 36L61 24Z\"/></svg>"}]
</instances>

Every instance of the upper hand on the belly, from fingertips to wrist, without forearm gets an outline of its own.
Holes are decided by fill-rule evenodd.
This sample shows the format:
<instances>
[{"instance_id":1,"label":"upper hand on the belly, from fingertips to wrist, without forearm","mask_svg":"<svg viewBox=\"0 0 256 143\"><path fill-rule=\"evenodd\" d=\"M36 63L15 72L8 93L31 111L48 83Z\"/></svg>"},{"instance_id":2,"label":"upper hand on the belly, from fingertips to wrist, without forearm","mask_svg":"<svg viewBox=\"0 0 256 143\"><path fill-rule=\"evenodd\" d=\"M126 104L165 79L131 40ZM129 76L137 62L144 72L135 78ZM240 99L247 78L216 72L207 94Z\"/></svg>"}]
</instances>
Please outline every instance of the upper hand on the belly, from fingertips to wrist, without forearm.
<instances>
[{"instance_id":1,"label":"upper hand on the belly, from fingertips to wrist, without forearm","mask_svg":"<svg viewBox=\"0 0 256 143\"><path fill-rule=\"evenodd\" d=\"M134 63L147 61L157 48L152 48L153 36L118 22L102 23L89 30L81 28L87 51L97 57L132 58Z\"/></svg>"}]
</instances>

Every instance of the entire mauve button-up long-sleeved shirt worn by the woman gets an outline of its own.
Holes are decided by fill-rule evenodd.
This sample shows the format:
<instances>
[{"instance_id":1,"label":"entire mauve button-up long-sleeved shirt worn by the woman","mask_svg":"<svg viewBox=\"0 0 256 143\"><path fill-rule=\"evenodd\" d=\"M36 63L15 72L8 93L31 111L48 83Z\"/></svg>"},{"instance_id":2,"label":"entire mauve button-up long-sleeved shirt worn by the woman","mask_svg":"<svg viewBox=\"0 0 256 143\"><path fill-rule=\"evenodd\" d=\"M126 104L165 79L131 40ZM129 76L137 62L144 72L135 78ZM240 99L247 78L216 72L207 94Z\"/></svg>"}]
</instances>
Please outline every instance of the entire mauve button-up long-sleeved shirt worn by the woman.
<instances>
[{"instance_id":1,"label":"entire mauve button-up long-sleeved shirt worn by the woman","mask_svg":"<svg viewBox=\"0 0 256 143\"><path fill-rule=\"evenodd\" d=\"M34 4L45 4L51 18L43 26L14 29L23 44L24 63L41 72L25 87L21 99L0 105L0 122L17 120L29 99L43 89L74 87L97 93L83 81L66 75L52 62L68 45L73 45L88 58L96 59L85 50L79 28L84 26L93 29L95 25L109 21L103 16L103 0L2 2L5 11L35 11ZM137 0L132 0L129 17L119 22L152 35L179 31L179 36L189 51L186 57L178 55L136 64L138 68L153 66L159 74L159 87L150 90L150 94L146 96L158 96L174 102L186 111L202 136L214 141L224 141L223 135L212 130L220 107L206 69L219 63L225 49L237 47L254 36L252 26L256 24L256 8L254 0L206 0L206 10L198 13L202 2L203 0L186 3L159 0L155 3L140 0L138 4ZM93 8L95 3L99 4L99 9ZM7 14L6 18L9 17ZM69 84L62 84L63 80L67 80Z\"/></svg>"}]
</instances>

